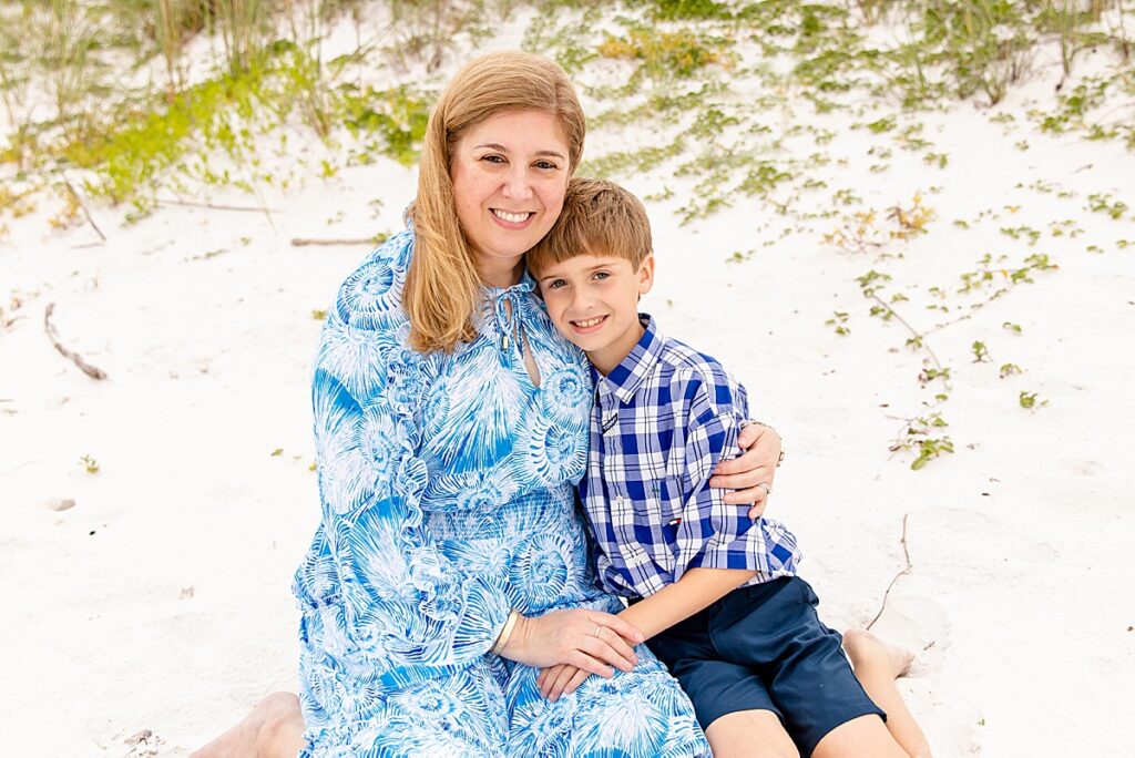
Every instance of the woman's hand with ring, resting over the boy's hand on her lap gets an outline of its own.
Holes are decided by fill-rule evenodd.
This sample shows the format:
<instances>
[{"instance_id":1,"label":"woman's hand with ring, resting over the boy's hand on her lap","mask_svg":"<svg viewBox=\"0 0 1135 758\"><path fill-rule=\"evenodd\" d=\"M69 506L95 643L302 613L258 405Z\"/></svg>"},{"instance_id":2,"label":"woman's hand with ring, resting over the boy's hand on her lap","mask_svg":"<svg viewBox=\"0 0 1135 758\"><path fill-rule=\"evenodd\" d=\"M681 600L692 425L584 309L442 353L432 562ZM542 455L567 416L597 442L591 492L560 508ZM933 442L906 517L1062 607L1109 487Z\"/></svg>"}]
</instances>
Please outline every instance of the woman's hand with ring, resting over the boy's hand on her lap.
<instances>
[{"instance_id":1,"label":"woman's hand with ring, resting over the boy's hand on her lap","mask_svg":"<svg viewBox=\"0 0 1135 758\"><path fill-rule=\"evenodd\" d=\"M571 664L609 679L612 666L630 671L638 663L633 646L642 632L609 613L573 608L529 618L521 616L501 655L533 668Z\"/></svg>"}]
</instances>

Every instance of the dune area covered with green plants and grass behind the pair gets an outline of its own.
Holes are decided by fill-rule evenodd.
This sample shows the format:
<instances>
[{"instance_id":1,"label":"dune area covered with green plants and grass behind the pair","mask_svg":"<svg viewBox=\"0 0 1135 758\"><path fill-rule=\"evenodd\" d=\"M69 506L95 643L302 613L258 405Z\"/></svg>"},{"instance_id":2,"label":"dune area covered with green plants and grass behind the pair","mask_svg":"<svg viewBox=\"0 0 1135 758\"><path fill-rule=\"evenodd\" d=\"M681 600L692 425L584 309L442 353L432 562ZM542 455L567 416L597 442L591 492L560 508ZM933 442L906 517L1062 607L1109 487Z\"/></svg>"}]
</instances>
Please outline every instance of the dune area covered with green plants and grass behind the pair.
<instances>
[{"instance_id":1,"label":"dune area covered with green plants and grass behind the pair","mask_svg":"<svg viewBox=\"0 0 1135 758\"><path fill-rule=\"evenodd\" d=\"M865 261L849 290L922 361L926 399L892 443L915 469L955 449L935 335L1054 273L1053 241L1084 234L1085 217L1135 220L1111 188L1022 183L1067 212L1029 225L1006 204L948 220L955 235L992 228L1006 250L980 251L976 267L967 254L952 284L919 290L899 264L941 228L940 187L872 208L852 186L908 158L926 184L953 170L927 124L959 102L1012 135L1015 154L1053 135L1135 151L1135 0L12 0L0 6L0 241L41 207L57 227L90 219L87 203L129 224L169 194L259 199L384 158L412 166L442 69L510 24L585 98L581 174L649 175L648 199L682 224L755 207L757 231L772 230L763 247L808 235ZM1048 96L1006 107L1042 77ZM849 133L865 153L833 149ZM936 322L911 326L915 309ZM864 322L852 334L849 306L833 313L823 328L855 340ZM956 364L999 363L1007 384L1025 371L999 345L965 342L981 349ZM1016 389L1015 405L1045 404Z\"/></svg>"}]
</instances>

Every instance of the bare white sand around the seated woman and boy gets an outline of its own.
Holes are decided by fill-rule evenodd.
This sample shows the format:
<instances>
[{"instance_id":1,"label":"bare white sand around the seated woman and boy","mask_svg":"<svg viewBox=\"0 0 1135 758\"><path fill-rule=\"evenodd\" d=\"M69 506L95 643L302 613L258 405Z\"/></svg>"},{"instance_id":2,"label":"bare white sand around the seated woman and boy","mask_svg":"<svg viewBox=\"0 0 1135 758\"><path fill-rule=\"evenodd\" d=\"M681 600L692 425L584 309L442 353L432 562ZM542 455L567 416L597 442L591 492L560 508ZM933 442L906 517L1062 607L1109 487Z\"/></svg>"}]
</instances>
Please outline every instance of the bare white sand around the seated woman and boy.
<instances>
[{"instance_id":1,"label":"bare white sand around the seated woman and boy","mask_svg":"<svg viewBox=\"0 0 1135 758\"><path fill-rule=\"evenodd\" d=\"M876 631L918 652L902 691L940 757L1123 755L1135 742L1135 247L1116 247L1135 241L1135 224L1082 210L1100 191L1135 204L1135 158L1118 143L1035 133L1025 101L1050 86L1001 108L1018 115L1008 136L968 103L927 118L935 150L950 154L944 170L896 150L890 171L871 174L863 132L841 130L827 149L855 161L825 169L817 207L844 186L874 208L922 189L936 217L892 247L901 260L822 244L829 220L763 246L781 221L755 201L688 227L670 212L681 195L649 207L658 285L646 306L667 334L722 359L754 415L783 435L770 515L799 536L830 625L876 614L905 565L909 514L913 568ZM1022 138L1028 151L1012 148ZM1077 195L1015 188L1037 178ZM311 179L266 195L271 224L163 208L124 227L119 210L95 208L101 246L84 246L96 241L89 227L48 231L44 207L0 243L0 296L24 317L0 330L0 752L180 755L268 692L294 690L288 587L318 516L311 311L367 249L288 241L395 230L413 180L389 161ZM628 185L657 189L651 177ZM1002 218L951 226L985 209ZM1052 238L1049 224L1065 218L1085 234ZM998 233L1018 224L1044 230L1035 247ZM725 263L738 250L757 252ZM936 390L919 387L922 356L902 347L902 326L867 315L855 277L889 271L885 292L907 294L897 308L924 329L935 322L927 288L952 293L986 252L1012 263L1043 252L1059 270L930 338L952 370L942 412L957 452L910 471L911 454L888 446ZM109 380L53 349L48 303L64 343ZM849 336L825 326L833 311L850 314ZM972 362L974 340L992 364ZM999 379L1007 362L1025 373ZM1022 409L1022 390L1048 405ZM74 507L53 509L65 498ZM127 744L141 730L149 740Z\"/></svg>"}]
</instances>

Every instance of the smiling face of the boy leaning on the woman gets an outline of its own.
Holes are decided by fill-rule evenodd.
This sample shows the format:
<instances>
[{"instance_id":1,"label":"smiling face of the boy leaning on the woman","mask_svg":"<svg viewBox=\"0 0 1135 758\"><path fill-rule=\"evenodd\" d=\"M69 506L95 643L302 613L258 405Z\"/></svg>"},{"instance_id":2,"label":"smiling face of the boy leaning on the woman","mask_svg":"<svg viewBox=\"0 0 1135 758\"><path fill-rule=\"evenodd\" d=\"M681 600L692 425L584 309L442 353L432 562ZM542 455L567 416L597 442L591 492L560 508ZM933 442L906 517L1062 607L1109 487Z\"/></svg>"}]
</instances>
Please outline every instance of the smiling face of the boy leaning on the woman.
<instances>
[{"instance_id":1,"label":"smiling face of the boy leaning on the woman","mask_svg":"<svg viewBox=\"0 0 1135 758\"><path fill-rule=\"evenodd\" d=\"M642 336L638 302L654 285L654 255L636 271L616 255L577 255L540 272L540 292L552 322L607 373Z\"/></svg>"}]
</instances>

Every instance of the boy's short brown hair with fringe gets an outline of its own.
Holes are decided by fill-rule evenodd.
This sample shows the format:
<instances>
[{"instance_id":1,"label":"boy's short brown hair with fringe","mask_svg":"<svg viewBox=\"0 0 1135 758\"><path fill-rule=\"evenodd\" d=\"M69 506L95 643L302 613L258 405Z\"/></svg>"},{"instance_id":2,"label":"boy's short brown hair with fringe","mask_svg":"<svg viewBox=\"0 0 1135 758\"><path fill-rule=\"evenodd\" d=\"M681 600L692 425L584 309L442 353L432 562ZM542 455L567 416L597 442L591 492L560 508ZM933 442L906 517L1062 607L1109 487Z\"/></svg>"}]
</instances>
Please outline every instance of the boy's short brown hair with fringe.
<instances>
[{"instance_id":1,"label":"boy's short brown hair with fringe","mask_svg":"<svg viewBox=\"0 0 1135 758\"><path fill-rule=\"evenodd\" d=\"M638 197L614 182L572 179L560 218L527 260L537 277L578 255L624 258L638 271L651 252L650 220Z\"/></svg>"}]
</instances>

